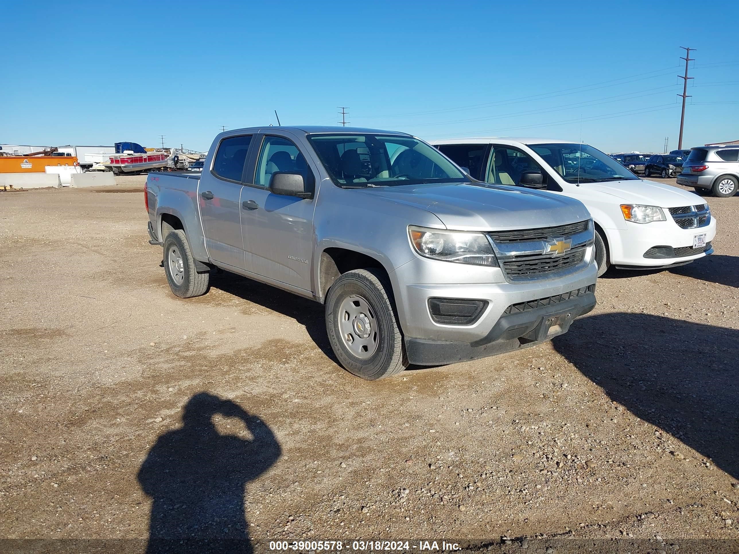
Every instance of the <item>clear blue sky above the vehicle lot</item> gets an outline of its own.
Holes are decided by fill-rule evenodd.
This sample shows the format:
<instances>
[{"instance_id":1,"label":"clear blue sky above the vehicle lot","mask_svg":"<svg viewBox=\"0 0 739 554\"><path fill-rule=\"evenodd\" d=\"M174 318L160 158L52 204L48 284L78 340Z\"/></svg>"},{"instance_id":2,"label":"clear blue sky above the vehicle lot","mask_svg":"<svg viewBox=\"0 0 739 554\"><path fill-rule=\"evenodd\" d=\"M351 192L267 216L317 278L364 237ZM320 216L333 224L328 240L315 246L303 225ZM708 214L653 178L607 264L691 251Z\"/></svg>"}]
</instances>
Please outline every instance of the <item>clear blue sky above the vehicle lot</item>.
<instances>
[{"instance_id":1,"label":"clear blue sky above the vehicle lot","mask_svg":"<svg viewBox=\"0 0 739 554\"><path fill-rule=\"evenodd\" d=\"M723 2L736 21L739 3ZM704 19L700 24L696 18ZM707 19L705 19L707 18ZM739 50L693 1L4 4L0 143L205 150L220 126L537 136L605 151L739 140Z\"/></svg>"}]
</instances>

